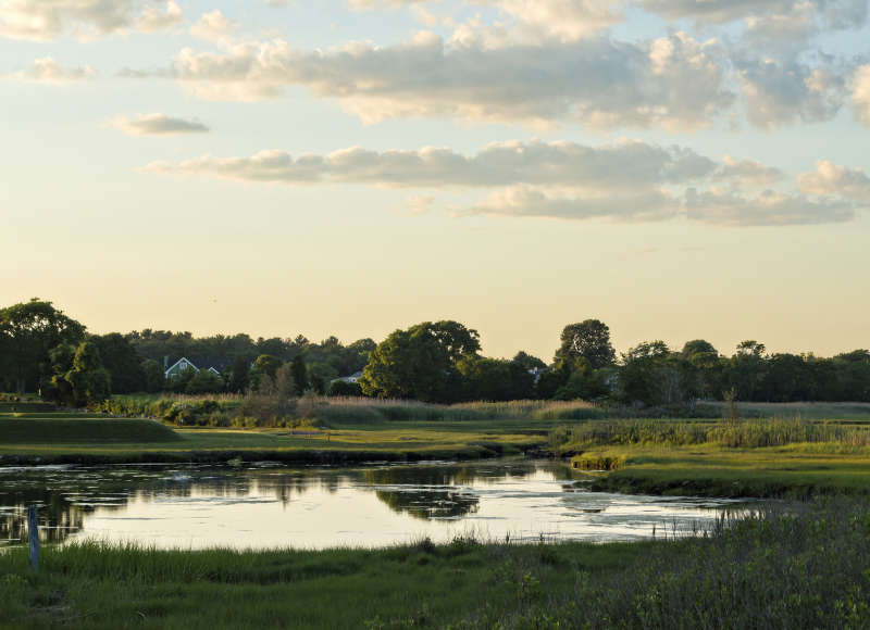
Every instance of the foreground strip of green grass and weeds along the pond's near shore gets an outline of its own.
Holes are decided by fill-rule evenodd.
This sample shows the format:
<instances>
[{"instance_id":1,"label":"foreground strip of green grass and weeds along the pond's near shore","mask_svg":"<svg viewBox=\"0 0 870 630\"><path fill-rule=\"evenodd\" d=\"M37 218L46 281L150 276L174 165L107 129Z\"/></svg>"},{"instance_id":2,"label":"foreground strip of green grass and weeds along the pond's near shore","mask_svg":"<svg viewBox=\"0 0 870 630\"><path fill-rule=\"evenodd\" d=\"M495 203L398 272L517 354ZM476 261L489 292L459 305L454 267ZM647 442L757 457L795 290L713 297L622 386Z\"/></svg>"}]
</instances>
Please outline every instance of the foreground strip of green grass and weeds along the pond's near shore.
<instances>
[{"instance_id":1,"label":"foreground strip of green grass and weeds along the pond's near shore","mask_svg":"<svg viewBox=\"0 0 870 630\"><path fill-rule=\"evenodd\" d=\"M45 628L859 628L870 506L762 509L687 540L380 551L0 554L0 626Z\"/></svg>"}]
</instances>

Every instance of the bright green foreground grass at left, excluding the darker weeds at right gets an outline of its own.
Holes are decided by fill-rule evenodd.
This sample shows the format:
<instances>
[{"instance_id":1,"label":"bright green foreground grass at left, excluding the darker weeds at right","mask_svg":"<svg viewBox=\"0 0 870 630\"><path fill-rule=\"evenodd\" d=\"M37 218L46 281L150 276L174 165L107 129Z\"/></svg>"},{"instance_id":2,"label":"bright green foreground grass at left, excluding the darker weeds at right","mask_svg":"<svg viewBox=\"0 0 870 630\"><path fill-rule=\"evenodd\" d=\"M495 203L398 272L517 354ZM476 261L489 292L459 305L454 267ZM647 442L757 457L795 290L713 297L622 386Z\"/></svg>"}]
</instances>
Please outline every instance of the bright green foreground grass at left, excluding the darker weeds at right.
<instances>
[{"instance_id":1,"label":"bright green foreground grass at left, excluding the darker weeds at right","mask_svg":"<svg viewBox=\"0 0 870 630\"><path fill-rule=\"evenodd\" d=\"M487 601L510 606L512 574L526 565L535 567L536 579L551 582L554 592L568 593L577 571L604 574L643 550L484 545L469 539L323 552L172 552L84 543L46 549L38 574L28 570L24 550L12 550L0 555L5 585L0 609L4 627L22 629L440 628ZM497 583L495 568L505 574Z\"/></svg>"}]
</instances>

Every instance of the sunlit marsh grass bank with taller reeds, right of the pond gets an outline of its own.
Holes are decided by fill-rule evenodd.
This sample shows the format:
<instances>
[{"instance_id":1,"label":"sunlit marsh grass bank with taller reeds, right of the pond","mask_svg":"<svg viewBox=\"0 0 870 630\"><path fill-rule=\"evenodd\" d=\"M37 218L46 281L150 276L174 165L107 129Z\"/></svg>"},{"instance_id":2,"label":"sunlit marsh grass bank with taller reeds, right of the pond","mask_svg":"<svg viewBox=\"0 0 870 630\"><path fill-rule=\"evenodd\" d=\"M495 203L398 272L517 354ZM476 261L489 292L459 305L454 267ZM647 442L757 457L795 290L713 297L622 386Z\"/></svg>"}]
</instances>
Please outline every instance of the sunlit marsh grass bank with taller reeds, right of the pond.
<instances>
[{"instance_id":1,"label":"sunlit marsh grass bank with taller reeds, right of the pond","mask_svg":"<svg viewBox=\"0 0 870 630\"><path fill-rule=\"evenodd\" d=\"M598 491L706 496L870 492L870 427L842 420L761 418L621 420L560 427L550 445L575 467L608 469Z\"/></svg>"}]
</instances>

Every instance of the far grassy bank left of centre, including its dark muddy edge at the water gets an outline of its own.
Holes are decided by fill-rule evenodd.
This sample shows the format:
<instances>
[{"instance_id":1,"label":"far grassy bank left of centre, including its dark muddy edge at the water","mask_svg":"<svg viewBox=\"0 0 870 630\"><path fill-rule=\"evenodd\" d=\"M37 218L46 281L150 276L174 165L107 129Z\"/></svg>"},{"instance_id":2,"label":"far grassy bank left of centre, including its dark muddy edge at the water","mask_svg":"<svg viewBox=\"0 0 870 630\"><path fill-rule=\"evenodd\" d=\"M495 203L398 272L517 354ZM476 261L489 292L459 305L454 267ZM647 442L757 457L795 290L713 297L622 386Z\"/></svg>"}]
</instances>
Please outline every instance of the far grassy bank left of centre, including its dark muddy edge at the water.
<instances>
[{"instance_id":1,"label":"far grassy bank left of centre, including its dark muddy edge at the water","mask_svg":"<svg viewBox=\"0 0 870 630\"><path fill-rule=\"evenodd\" d=\"M333 428L170 428L88 413L0 414L0 465L472 459L539 448L555 421L383 420Z\"/></svg>"}]
</instances>

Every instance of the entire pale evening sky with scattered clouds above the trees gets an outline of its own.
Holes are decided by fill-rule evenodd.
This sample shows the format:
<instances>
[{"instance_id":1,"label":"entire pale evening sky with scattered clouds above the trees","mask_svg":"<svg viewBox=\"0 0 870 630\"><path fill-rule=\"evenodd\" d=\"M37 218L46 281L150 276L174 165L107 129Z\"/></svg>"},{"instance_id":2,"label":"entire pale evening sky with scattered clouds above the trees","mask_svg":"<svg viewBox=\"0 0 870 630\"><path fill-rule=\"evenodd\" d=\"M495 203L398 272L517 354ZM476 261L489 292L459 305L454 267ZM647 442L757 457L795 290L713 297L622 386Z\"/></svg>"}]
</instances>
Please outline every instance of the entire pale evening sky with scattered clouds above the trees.
<instances>
[{"instance_id":1,"label":"entire pale evening sky with scattered clouds above the trees","mask_svg":"<svg viewBox=\"0 0 870 630\"><path fill-rule=\"evenodd\" d=\"M0 305L870 346L870 0L0 0Z\"/></svg>"}]
</instances>

